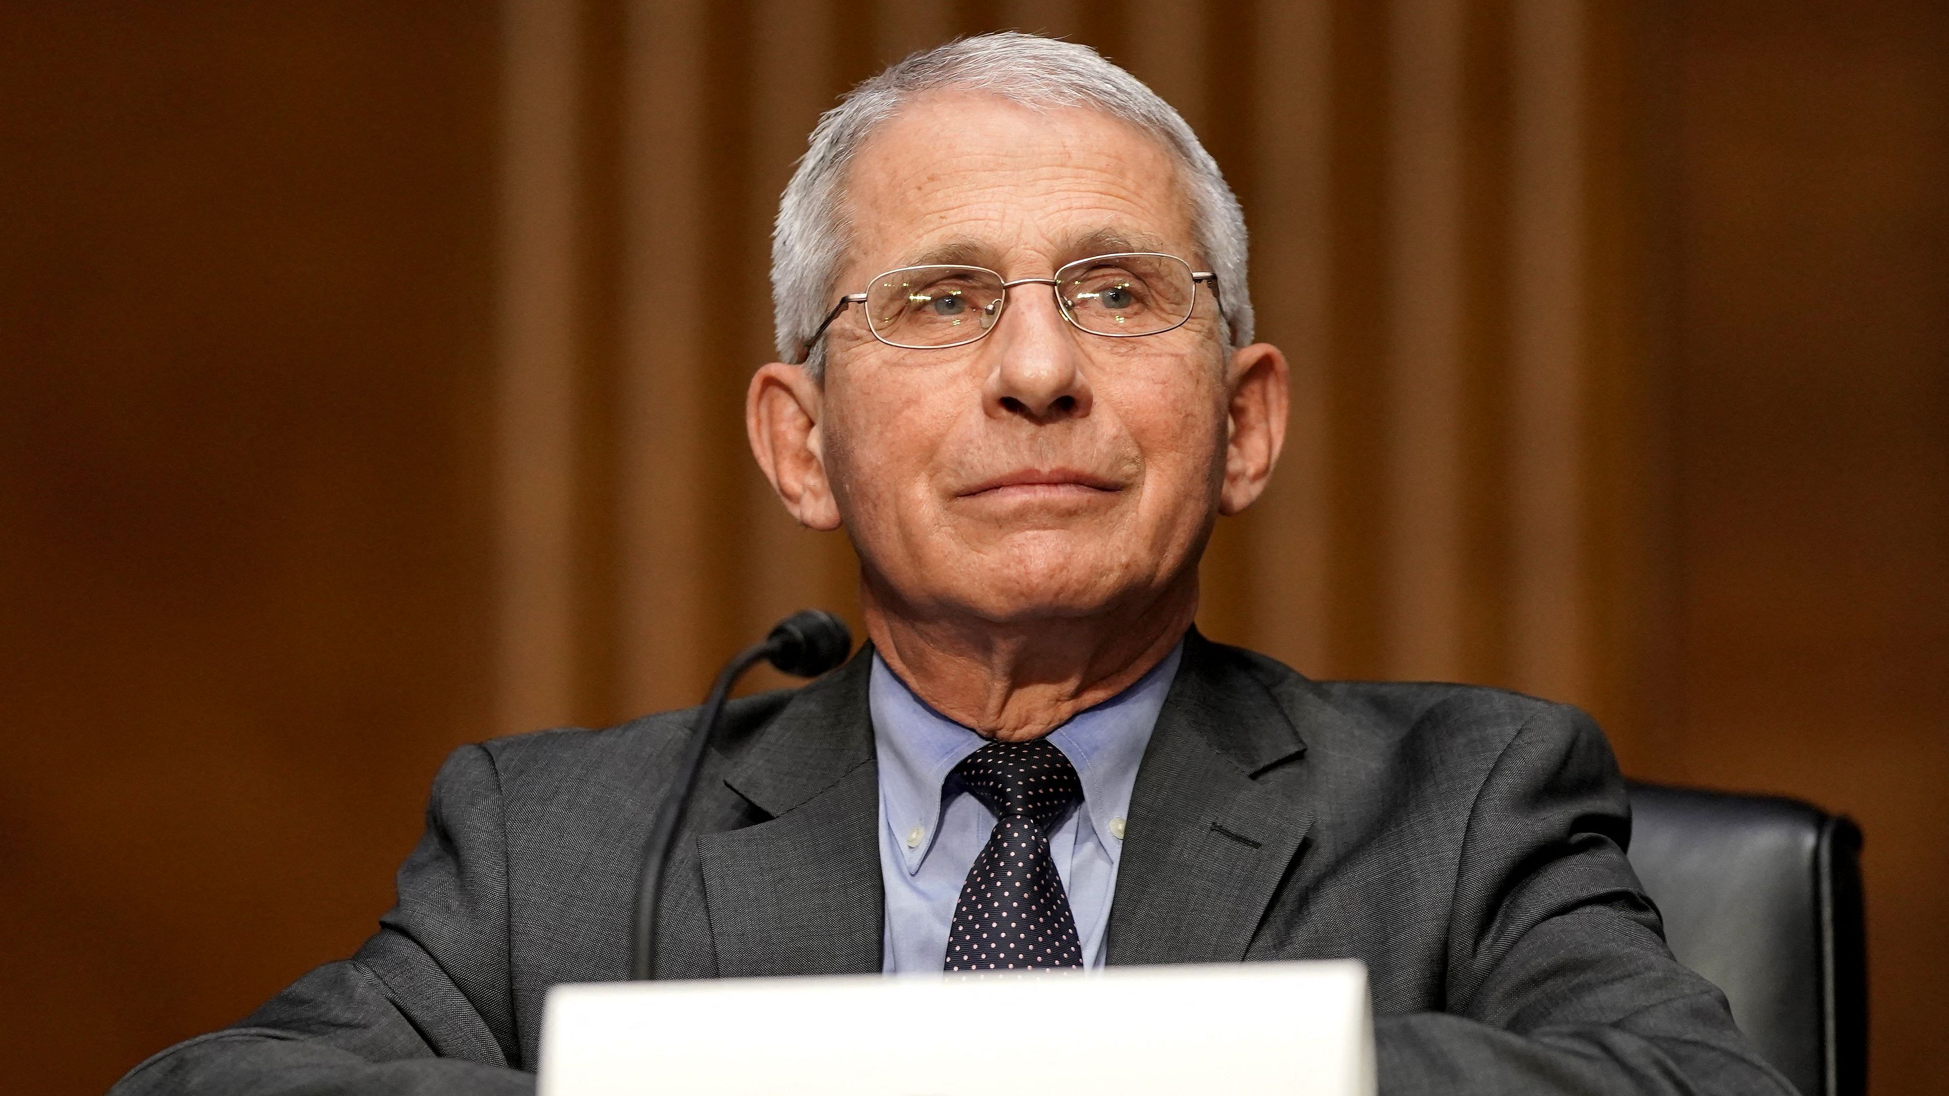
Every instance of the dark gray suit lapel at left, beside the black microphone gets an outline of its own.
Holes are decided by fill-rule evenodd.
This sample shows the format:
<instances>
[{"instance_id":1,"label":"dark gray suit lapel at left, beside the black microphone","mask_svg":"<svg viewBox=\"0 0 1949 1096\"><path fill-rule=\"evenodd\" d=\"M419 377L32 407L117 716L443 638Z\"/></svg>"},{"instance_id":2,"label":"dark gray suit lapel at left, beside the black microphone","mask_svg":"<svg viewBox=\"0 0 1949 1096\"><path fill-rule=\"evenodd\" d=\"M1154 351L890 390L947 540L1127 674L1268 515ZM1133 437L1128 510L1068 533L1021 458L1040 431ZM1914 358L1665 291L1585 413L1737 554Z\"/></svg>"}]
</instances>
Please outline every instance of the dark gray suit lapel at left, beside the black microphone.
<instances>
[{"instance_id":1,"label":"dark gray suit lapel at left, beside the black microphone","mask_svg":"<svg viewBox=\"0 0 1949 1096\"><path fill-rule=\"evenodd\" d=\"M698 839L719 977L881 967L869 669L867 647L801 688L725 776L770 819Z\"/></svg>"}]
</instances>

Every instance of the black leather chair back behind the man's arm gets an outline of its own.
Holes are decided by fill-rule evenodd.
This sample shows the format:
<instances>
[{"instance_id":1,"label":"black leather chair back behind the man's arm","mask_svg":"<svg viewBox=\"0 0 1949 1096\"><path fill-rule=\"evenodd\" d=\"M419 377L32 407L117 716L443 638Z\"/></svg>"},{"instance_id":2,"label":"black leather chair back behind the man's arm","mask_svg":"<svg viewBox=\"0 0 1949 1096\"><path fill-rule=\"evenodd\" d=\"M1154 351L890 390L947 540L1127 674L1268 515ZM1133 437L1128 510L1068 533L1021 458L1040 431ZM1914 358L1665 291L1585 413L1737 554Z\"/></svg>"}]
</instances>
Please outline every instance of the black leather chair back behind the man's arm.
<instances>
[{"instance_id":1,"label":"black leather chair back behind the man's arm","mask_svg":"<svg viewBox=\"0 0 1949 1096\"><path fill-rule=\"evenodd\" d=\"M1861 831L1797 800L1631 784L1631 866L1678 961L1805 1096L1867 1088Z\"/></svg>"}]
</instances>

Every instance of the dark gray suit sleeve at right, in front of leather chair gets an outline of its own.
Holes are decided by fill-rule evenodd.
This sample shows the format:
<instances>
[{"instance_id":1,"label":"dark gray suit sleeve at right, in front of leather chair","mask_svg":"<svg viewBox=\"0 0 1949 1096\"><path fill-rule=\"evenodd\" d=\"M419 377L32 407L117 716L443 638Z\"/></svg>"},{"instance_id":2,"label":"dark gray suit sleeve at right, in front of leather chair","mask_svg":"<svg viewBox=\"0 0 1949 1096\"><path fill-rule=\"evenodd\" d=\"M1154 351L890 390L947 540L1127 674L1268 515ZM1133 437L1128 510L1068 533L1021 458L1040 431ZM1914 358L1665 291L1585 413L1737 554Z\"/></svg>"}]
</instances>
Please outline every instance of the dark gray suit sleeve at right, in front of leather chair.
<instances>
[{"instance_id":1,"label":"dark gray suit sleeve at right, in front of leather chair","mask_svg":"<svg viewBox=\"0 0 1949 1096\"><path fill-rule=\"evenodd\" d=\"M1624 778L1590 718L1532 716L1470 811L1446 1010L1376 1020L1380 1092L1795 1096L1664 946L1627 835Z\"/></svg>"}]
</instances>

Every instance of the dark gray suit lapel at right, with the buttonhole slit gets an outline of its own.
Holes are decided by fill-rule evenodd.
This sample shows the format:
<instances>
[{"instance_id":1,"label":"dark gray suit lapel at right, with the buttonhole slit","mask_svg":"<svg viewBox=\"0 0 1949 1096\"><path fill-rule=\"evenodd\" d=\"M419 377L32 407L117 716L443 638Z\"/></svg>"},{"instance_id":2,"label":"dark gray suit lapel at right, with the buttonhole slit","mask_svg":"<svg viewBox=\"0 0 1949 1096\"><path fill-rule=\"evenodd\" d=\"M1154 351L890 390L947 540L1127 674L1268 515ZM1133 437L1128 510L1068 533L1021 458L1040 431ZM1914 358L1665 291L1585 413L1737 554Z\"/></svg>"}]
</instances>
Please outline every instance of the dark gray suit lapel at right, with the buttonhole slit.
<instances>
[{"instance_id":1,"label":"dark gray suit lapel at right, with the buttonhole slit","mask_svg":"<svg viewBox=\"0 0 1949 1096\"><path fill-rule=\"evenodd\" d=\"M1312 813L1306 751L1265 685L1195 630L1130 796L1111 903L1111 963L1245 958Z\"/></svg>"}]
</instances>

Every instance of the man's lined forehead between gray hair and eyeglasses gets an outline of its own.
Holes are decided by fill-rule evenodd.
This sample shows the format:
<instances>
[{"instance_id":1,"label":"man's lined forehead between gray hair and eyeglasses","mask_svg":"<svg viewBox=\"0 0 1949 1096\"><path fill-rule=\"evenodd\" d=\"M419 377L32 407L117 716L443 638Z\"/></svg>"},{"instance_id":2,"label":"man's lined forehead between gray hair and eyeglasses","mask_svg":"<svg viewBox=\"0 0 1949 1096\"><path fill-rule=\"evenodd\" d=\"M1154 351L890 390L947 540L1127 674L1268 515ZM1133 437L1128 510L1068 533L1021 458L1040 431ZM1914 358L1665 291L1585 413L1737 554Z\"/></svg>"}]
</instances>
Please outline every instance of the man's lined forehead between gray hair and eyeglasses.
<instances>
[{"instance_id":1,"label":"man's lined forehead between gray hair and eyeglasses","mask_svg":"<svg viewBox=\"0 0 1949 1096\"><path fill-rule=\"evenodd\" d=\"M1084 107L1031 109L982 92L916 98L860 148L846 197L850 277L922 261L1041 275L1119 250L1197 261L1177 158Z\"/></svg>"}]
</instances>

